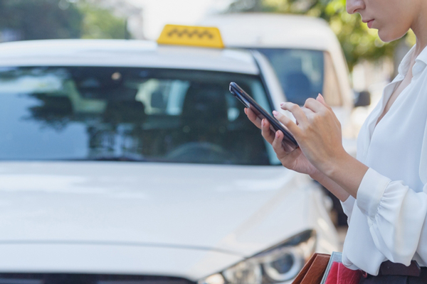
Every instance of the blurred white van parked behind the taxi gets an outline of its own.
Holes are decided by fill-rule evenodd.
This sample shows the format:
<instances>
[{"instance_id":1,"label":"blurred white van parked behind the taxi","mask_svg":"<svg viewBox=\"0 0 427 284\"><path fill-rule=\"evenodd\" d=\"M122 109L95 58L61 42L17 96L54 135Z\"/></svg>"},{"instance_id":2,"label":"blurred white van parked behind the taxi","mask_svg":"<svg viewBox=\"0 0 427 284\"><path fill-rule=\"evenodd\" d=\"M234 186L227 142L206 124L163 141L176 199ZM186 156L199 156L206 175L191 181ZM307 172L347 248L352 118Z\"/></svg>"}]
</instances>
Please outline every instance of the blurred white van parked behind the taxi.
<instances>
[{"instance_id":1,"label":"blurred white van parked behind the taxi","mask_svg":"<svg viewBox=\"0 0 427 284\"><path fill-rule=\"evenodd\" d=\"M227 47L263 53L273 65L290 102L302 105L307 98L323 94L343 129L349 125L354 107L369 104L366 92L354 102L342 48L326 21L320 18L229 13L209 16L201 24L219 28ZM344 146L355 153L355 143L344 141Z\"/></svg>"}]
</instances>

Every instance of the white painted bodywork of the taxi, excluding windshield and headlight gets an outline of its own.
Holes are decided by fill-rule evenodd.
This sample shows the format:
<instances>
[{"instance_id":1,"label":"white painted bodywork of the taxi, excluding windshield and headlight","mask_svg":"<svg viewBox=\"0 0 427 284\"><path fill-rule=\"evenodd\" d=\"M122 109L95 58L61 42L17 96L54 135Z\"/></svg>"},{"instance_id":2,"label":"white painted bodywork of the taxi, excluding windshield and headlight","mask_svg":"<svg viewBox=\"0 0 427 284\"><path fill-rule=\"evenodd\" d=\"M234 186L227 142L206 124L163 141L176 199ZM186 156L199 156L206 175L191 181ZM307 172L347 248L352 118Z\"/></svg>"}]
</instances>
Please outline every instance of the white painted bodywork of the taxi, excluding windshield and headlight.
<instances>
[{"instance_id":1,"label":"white painted bodywork of the taxi, excluding windshield and headlight","mask_svg":"<svg viewBox=\"0 0 427 284\"><path fill-rule=\"evenodd\" d=\"M267 60L248 51L132 40L0 44L11 66L127 66L258 75L284 96ZM0 78L1 79L1 78ZM319 185L280 166L0 162L1 273L165 275L197 281L306 229L338 249ZM139 283L139 282L138 282Z\"/></svg>"}]
</instances>

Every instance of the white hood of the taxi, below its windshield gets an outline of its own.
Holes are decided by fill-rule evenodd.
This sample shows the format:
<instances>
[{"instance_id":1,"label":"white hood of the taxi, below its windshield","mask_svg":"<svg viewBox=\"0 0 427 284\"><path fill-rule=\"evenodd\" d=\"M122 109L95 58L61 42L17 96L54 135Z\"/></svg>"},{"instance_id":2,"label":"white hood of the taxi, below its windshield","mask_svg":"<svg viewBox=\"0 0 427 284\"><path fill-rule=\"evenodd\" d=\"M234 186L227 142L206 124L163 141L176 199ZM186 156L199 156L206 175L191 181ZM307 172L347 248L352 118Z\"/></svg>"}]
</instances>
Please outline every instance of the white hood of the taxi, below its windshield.
<instances>
[{"instance_id":1,"label":"white hood of the taxi, below its windshield","mask_svg":"<svg viewBox=\"0 0 427 284\"><path fill-rule=\"evenodd\" d=\"M0 246L205 251L222 257L216 269L306 229L304 179L276 166L4 162Z\"/></svg>"}]
</instances>

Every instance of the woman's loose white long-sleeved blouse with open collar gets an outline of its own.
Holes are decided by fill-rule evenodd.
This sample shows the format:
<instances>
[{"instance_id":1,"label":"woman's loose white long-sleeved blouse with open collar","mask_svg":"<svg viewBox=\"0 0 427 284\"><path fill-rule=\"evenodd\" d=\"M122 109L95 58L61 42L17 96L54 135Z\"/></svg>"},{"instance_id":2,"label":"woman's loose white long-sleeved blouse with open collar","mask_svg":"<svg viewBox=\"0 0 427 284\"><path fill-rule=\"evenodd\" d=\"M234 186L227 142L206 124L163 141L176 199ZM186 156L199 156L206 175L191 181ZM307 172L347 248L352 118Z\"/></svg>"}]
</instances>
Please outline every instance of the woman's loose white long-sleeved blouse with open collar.
<instances>
[{"instance_id":1,"label":"woman's loose white long-sleeved blouse with open collar","mask_svg":"<svg viewBox=\"0 0 427 284\"><path fill-rule=\"evenodd\" d=\"M416 58L411 83L375 126L404 80L414 48L362 126L357 160L369 170L357 199L342 202L349 222L342 261L371 275L386 260L427 266L427 48Z\"/></svg>"}]
</instances>

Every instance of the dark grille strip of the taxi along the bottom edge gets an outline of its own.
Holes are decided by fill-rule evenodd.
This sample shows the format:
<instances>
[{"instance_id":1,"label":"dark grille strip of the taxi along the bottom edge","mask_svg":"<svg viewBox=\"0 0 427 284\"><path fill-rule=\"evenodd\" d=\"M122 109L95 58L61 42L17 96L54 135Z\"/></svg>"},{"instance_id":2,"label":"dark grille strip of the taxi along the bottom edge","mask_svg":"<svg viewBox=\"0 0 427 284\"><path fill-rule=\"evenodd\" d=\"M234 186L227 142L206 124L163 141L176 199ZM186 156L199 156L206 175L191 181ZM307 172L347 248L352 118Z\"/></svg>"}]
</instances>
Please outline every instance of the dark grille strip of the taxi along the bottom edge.
<instances>
[{"instance_id":1,"label":"dark grille strip of the taxi along the bottom edge","mask_svg":"<svg viewBox=\"0 0 427 284\"><path fill-rule=\"evenodd\" d=\"M151 275L0 273L0 284L196 284L184 278Z\"/></svg>"}]
</instances>

